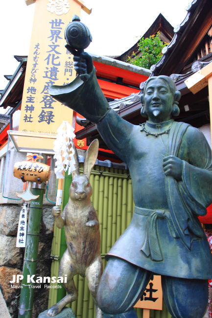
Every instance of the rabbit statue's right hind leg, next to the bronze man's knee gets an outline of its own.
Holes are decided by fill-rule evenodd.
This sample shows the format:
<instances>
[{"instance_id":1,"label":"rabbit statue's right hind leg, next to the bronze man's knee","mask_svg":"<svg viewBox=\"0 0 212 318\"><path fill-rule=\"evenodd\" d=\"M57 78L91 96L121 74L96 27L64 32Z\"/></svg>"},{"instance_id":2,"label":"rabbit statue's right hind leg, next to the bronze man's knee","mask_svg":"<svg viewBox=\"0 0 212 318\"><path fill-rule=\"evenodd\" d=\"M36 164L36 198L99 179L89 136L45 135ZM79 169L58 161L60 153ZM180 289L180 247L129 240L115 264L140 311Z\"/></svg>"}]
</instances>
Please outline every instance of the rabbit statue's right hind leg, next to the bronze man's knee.
<instances>
[{"instance_id":1,"label":"rabbit statue's right hind leg, next to the bronze man's knee","mask_svg":"<svg viewBox=\"0 0 212 318\"><path fill-rule=\"evenodd\" d=\"M88 288L90 290L91 295L94 298L96 318L102 317L101 310L98 307L96 302L96 293L97 293L98 283L100 281L102 272L103 272L102 260L101 260L101 256L98 255L95 258L94 262L86 269L86 272L85 272L87 282L88 282Z\"/></svg>"}]
</instances>

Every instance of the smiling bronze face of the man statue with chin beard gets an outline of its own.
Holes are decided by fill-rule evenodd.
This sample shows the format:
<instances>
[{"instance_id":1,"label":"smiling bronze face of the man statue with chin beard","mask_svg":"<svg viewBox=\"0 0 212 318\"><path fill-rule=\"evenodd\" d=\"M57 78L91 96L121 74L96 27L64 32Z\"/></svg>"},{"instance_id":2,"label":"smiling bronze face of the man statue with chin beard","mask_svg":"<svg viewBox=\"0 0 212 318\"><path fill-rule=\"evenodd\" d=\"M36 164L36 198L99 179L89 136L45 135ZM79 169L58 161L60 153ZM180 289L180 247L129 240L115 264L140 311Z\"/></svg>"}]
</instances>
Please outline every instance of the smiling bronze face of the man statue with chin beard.
<instances>
[{"instance_id":1,"label":"smiling bronze face of the man statue with chin beard","mask_svg":"<svg viewBox=\"0 0 212 318\"><path fill-rule=\"evenodd\" d=\"M171 118L174 96L160 78L149 81L144 94L145 112L149 121L163 122Z\"/></svg>"}]
</instances>

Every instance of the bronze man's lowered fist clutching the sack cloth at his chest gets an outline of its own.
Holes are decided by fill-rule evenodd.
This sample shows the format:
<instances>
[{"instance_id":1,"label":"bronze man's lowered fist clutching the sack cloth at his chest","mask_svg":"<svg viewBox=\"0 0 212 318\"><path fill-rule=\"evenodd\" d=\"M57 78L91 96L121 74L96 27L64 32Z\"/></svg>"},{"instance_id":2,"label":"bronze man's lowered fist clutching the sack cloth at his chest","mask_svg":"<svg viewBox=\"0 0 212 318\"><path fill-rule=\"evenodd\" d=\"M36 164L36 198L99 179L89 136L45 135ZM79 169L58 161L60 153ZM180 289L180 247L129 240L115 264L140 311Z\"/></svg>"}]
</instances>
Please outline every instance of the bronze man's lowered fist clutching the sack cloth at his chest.
<instances>
[{"instance_id":1,"label":"bronze man's lowered fist clutching the sack cloth at his chest","mask_svg":"<svg viewBox=\"0 0 212 318\"><path fill-rule=\"evenodd\" d=\"M175 156L165 157L163 162L163 168L166 176L173 177L178 181L182 180L183 160Z\"/></svg>"}]
</instances>

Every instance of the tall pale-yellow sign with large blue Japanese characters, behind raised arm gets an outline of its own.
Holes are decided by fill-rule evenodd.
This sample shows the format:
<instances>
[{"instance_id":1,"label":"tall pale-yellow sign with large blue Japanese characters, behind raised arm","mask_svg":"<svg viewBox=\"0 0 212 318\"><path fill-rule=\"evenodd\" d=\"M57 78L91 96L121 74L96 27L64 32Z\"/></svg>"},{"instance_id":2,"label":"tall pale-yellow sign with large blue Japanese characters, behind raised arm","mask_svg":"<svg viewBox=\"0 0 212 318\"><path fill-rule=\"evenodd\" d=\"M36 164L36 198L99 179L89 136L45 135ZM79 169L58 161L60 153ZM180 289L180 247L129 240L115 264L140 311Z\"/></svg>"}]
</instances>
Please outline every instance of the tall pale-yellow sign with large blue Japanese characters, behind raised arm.
<instances>
[{"instance_id":1,"label":"tall pale-yellow sign with large blue Japanese characters, behind raised arm","mask_svg":"<svg viewBox=\"0 0 212 318\"><path fill-rule=\"evenodd\" d=\"M80 12L75 0L36 0L19 131L56 134L63 120L72 124L71 109L54 100L48 88L68 84L76 76L64 32Z\"/></svg>"}]
</instances>

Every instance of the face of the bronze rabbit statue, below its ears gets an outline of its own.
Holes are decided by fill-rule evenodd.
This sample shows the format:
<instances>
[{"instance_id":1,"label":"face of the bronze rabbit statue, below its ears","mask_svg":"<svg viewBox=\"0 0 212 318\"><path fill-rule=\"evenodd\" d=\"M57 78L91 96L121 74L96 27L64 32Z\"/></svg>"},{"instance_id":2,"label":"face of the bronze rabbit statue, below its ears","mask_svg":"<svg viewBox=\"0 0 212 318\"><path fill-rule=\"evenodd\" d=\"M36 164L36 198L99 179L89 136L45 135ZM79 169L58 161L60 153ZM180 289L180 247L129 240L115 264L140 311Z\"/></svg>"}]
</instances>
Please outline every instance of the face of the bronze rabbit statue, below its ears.
<instances>
[{"instance_id":1,"label":"face of the bronze rabbit statue, below its ears","mask_svg":"<svg viewBox=\"0 0 212 318\"><path fill-rule=\"evenodd\" d=\"M69 190L71 200L85 200L92 196L92 187L85 175L77 175L73 178Z\"/></svg>"}]
</instances>

